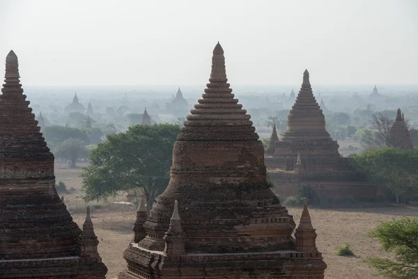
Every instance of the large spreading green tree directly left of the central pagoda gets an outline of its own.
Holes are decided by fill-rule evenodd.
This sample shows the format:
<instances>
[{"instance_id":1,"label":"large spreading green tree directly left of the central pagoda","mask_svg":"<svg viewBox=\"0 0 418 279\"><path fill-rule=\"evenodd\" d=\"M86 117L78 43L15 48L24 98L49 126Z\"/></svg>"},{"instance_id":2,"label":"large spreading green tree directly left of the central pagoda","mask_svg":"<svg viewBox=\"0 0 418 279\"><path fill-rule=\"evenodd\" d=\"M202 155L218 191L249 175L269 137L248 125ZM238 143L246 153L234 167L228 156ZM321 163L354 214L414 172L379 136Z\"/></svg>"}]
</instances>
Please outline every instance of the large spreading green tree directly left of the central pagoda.
<instances>
[{"instance_id":1,"label":"large spreading green tree directly left of the central pagoda","mask_svg":"<svg viewBox=\"0 0 418 279\"><path fill-rule=\"evenodd\" d=\"M173 124L131 126L109 135L91 151L82 172L84 199L106 199L121 191L141 190L147 206L167 187L173 144L180 127Z\"/></svg>"}]
</instances>

